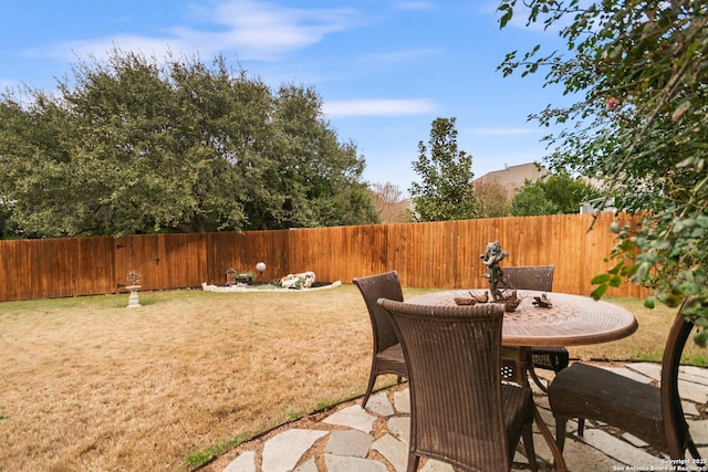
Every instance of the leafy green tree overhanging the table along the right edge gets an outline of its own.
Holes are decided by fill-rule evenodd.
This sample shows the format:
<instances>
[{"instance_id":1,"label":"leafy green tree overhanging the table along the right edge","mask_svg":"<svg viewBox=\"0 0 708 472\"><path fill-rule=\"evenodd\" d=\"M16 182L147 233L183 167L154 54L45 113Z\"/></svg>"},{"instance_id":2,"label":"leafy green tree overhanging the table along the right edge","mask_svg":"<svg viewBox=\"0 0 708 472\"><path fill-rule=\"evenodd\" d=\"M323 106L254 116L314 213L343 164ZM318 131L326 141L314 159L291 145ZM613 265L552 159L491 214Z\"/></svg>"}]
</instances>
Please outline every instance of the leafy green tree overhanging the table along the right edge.
<instances>
[{"instance_id":1,"label":"leafy green tree overhanging the table along the right edge","mask_svg":"<svg viewBox=\"0 0 708 472\"><path fill-rule=\"evenodd\" d=\"M708 4L704 1L502 0L500 24L522 10L529 23L558 29L565 51L537 45L508 54L506 74L543 71L575 102L534 118L561 125L549 136L555 168L610 182L607 198L643 216L613 225L616 265L596 277L595 296L629 279L646 301L686 311L708 326ZM708 331L697 342L705 344Z\"/></svg>"}]
</instances>

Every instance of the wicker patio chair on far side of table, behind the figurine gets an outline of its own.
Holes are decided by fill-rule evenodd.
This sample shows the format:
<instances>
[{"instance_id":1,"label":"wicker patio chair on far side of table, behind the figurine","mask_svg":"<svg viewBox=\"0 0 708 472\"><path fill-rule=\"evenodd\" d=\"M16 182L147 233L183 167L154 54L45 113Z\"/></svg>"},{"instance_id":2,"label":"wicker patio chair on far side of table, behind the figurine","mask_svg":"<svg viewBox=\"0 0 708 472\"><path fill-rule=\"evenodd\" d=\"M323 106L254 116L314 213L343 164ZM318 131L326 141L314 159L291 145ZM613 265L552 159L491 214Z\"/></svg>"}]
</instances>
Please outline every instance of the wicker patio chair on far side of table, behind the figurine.
<instances>
[{"instance_id":1,"label":"wicker patio chair on far side of table, behind the figurine","mask_svg":"<svg viewBox=\"0 0 708 472\"><path fill-rule=\"evenodd\" d=\"M554 265L511 266L502 268L502 271L504 279L518 290L553 291ZM533 368L553 370L558 374L568 367L569 358L568 349L563 346L533 347L531 348L530 365L533 366ZM502 367L504 368L507 379L514 379L516 376L519 375L514 371L518 367L511 359L502 363ZM535 384L545 390L545 386L539 380L535 373L531 370L530 374Z\"/></svg>"}]
</instances>

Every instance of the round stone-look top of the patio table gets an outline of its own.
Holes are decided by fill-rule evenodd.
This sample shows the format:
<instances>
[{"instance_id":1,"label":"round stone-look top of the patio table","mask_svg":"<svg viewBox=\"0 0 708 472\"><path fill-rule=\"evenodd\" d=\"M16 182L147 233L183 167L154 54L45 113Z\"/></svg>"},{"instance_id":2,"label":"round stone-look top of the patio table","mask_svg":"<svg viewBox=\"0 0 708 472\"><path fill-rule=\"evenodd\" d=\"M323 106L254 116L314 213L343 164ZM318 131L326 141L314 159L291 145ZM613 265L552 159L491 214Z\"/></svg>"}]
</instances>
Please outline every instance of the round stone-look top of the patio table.
<instances>
[{"instance_id":1,"label":"round stone-look top of the patio table","mask_svg":"<svg viewBox=\"0 0 708 472\"><path fill-rule=\"evenodd\" d=\"M455 298L470 298L487 292L485 289L435 292L406 301L417 305L455 305ZM521 303L514 312L506 313L502 343L508 346L580 346L622 339L638 327L627 310L587 296L546 292L553 306L533 305L533 297L544 292L519 290Z\"/></svg>"}]
</instances>

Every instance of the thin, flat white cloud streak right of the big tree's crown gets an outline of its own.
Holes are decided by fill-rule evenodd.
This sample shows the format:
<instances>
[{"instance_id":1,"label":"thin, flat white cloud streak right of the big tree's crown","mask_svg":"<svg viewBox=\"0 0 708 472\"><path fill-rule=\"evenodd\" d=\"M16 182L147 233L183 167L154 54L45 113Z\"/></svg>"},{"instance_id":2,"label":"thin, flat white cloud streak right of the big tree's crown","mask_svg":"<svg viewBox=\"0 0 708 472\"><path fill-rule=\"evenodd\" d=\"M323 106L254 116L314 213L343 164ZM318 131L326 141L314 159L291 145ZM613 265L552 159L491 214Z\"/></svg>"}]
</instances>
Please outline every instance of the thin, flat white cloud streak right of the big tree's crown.
<instances>
[{"instance_id":1,"label":"thin, flat white cloud streak right of the big tree's crown","mask_svg":"<svg viewBox=\"0 0 708 472\"><path fill-rule=\"evenodd\" d=\"M322 108L327 116L402 116L433 113L437 106L428 98L381 98L325 102Z\"/></svg>"}]
</instances>

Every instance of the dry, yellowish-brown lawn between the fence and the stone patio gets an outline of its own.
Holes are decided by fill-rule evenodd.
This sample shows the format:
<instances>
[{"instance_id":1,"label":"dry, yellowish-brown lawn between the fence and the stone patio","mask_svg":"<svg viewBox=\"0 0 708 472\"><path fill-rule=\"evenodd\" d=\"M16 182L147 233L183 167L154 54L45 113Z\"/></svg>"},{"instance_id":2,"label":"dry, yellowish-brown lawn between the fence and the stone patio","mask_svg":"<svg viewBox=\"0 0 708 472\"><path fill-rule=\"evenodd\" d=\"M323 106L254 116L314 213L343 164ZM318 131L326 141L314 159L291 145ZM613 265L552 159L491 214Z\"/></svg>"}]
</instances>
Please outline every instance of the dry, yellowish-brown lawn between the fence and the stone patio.
<instances>
[{"instance_id":1,"label":"dry, yellowish-brown lawn between the fence and the stone patio","mask_svg":"<svg viewBox=\"0 0 708 472\"><path fill-rule=\"evenodd\" d=\"M673 312L615 302L632 306L639 332L571 355L656 358ZM353 285L154 292L140 303L127 308L126 294L0 303L1 470L190 470L364 392L371 327Z\"/></svg>"}]
</instances>

